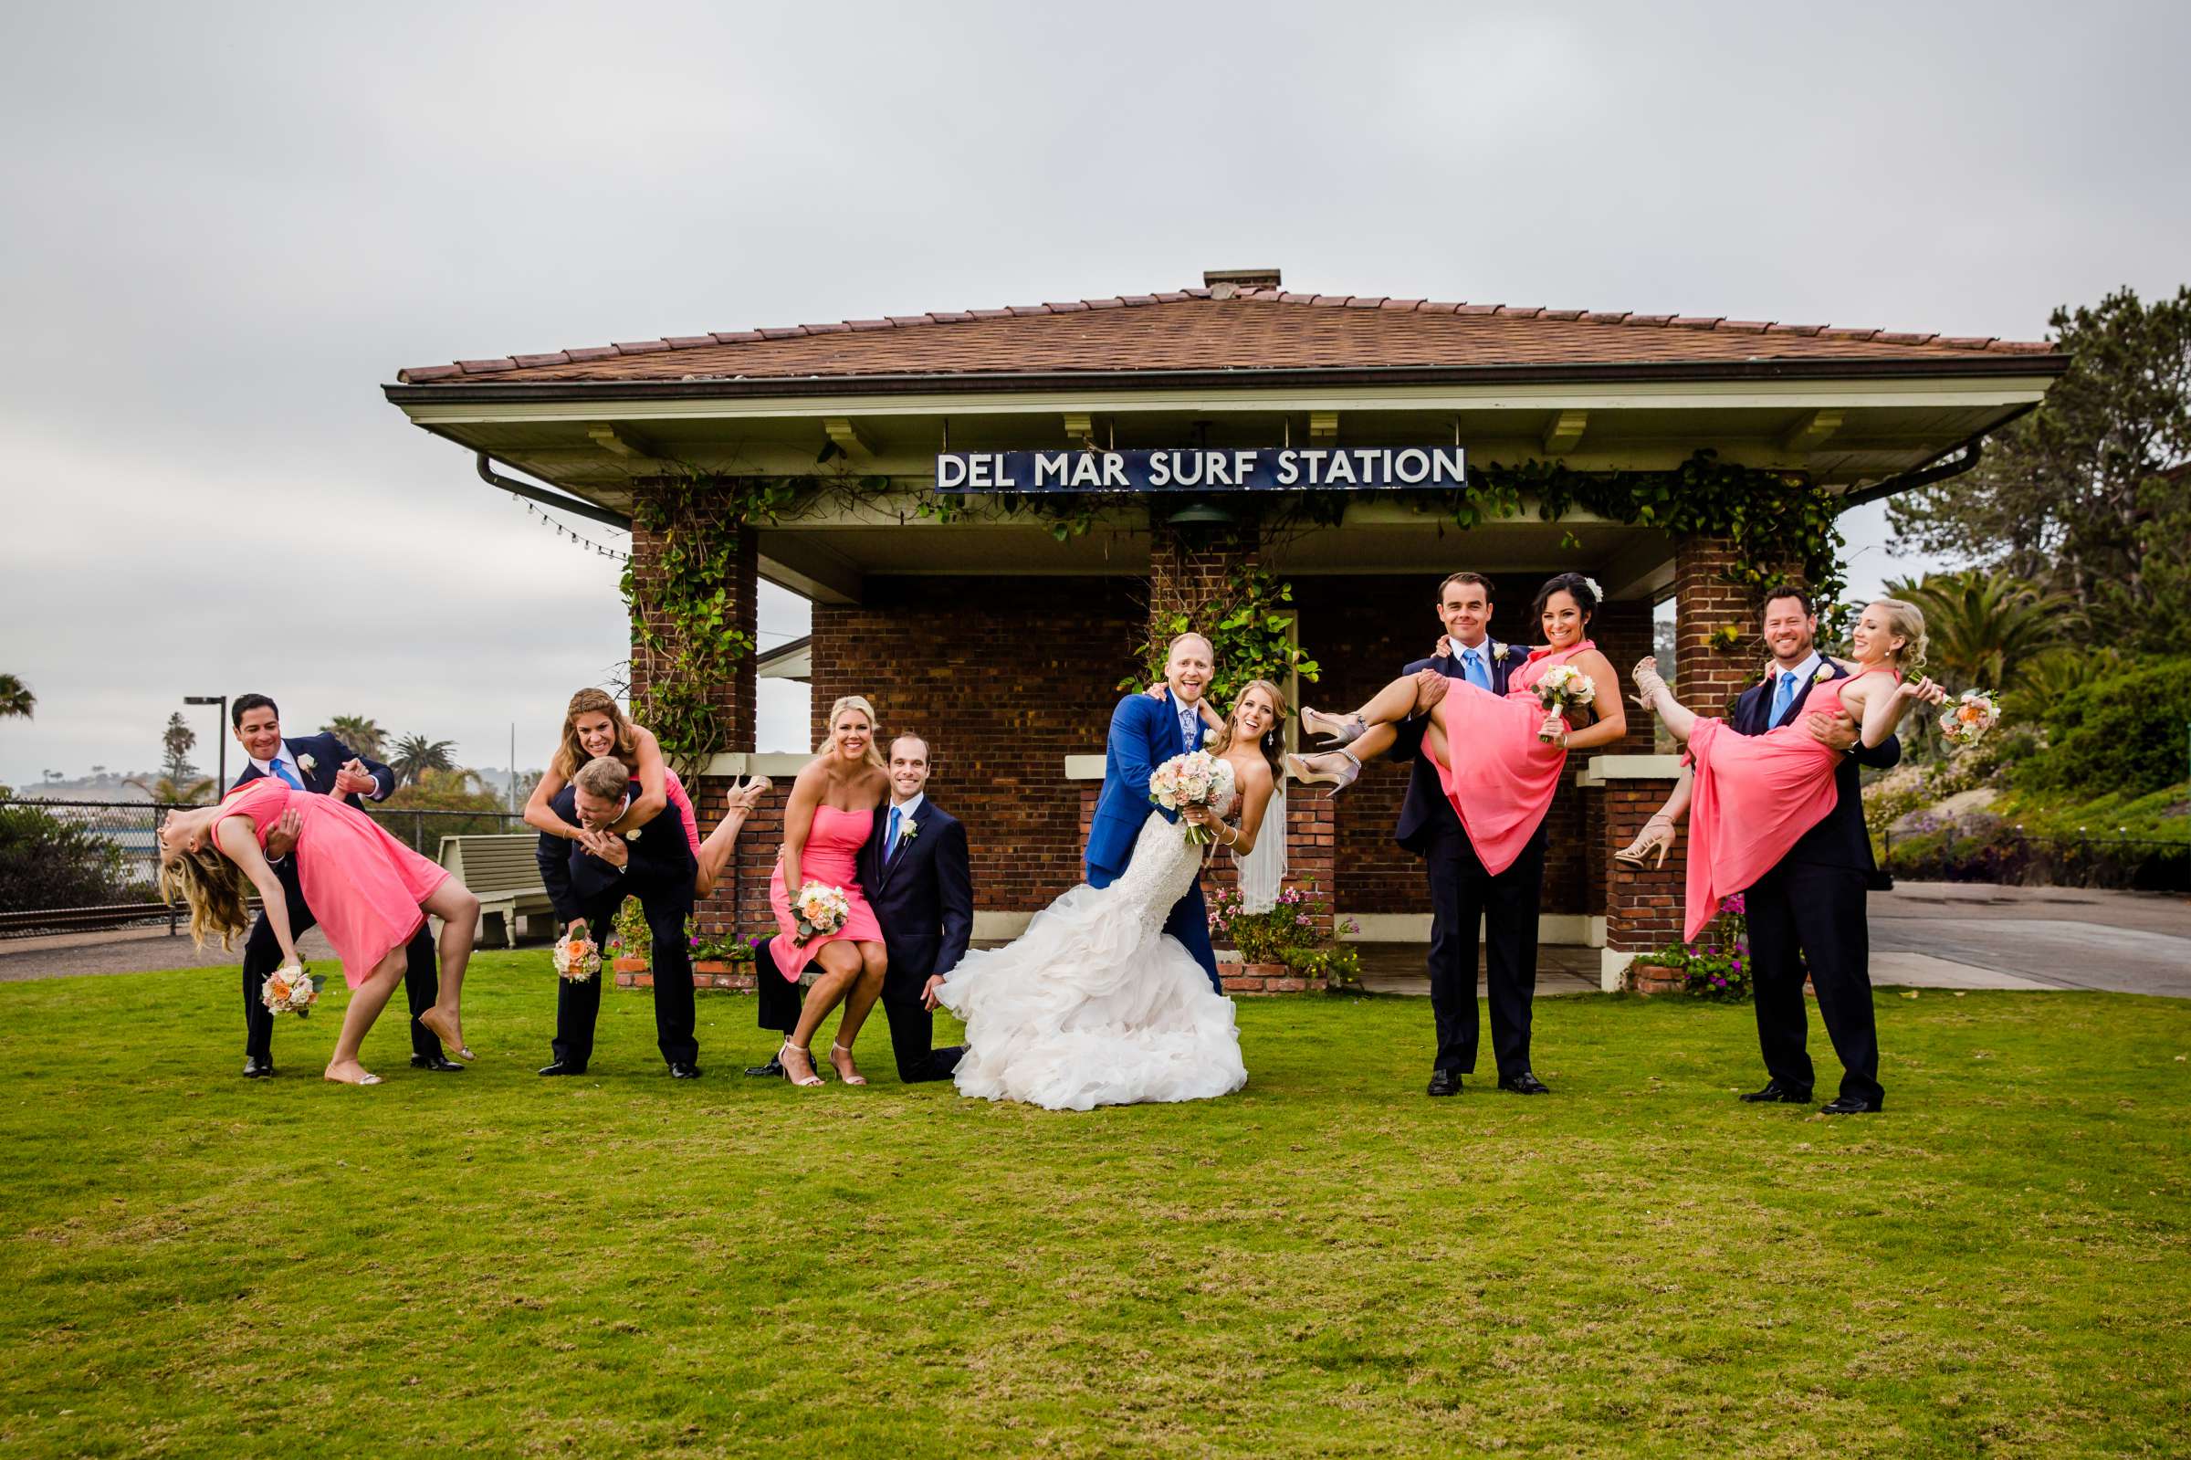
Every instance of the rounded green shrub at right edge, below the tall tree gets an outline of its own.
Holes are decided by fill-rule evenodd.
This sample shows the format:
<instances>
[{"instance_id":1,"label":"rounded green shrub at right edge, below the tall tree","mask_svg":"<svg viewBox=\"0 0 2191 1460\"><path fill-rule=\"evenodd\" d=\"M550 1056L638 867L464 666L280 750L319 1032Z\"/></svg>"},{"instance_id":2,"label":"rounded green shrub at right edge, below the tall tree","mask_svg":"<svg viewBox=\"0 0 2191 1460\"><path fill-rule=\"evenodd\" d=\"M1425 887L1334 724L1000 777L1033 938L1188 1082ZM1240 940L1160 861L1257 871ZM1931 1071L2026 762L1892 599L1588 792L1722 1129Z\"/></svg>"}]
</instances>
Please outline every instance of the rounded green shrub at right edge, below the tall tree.
<instances>
[{"instance_id":1,"label":"rounded green shrub at right edge, below the tall tree","mask_svg":"<svg viewBox=\"0 0 2191 1460\"><path fill-rule=\"evenodd\" d=\"M2016 767L2042 791L2145 796L2184 769L2191 658L2143 660L2068 691L2046 712L2046 752Z\"/></svg>"}]
</instances>

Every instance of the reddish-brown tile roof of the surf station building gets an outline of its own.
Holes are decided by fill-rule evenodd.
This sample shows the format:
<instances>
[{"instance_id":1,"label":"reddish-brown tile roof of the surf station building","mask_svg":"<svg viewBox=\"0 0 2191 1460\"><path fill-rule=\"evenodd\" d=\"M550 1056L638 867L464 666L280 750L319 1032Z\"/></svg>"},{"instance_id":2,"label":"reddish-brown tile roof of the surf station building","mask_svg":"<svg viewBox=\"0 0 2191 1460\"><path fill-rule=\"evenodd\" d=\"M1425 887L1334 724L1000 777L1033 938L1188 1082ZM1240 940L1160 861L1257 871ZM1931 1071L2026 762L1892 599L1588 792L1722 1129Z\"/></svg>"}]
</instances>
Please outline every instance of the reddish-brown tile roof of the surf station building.
<instances>
[{"instance_id":1,"label":"reddish-brown tile roof of the surf station building","mask_svg":"<svg viewBox=\"0 0 2191 1460\"><path fill-rule=\"evenodd\" d=\"M414 366L399 381L692 381L1100 370L1751 364L2051 355L1948 338L1718 316L1464 305L1282 289L1179 289L1010 309L736 329Z\"/></svg>"}]
</instances>

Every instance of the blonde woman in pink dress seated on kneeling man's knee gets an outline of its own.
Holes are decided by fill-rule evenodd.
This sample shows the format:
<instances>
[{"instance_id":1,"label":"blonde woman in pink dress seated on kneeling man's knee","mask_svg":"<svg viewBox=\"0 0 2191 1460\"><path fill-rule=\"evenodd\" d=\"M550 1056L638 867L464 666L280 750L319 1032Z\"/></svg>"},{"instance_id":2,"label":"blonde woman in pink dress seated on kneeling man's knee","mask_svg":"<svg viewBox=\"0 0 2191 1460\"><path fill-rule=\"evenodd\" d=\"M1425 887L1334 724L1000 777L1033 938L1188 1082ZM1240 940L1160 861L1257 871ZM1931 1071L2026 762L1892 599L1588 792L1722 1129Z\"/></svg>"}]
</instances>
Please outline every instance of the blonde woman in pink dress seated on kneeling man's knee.
<instances>
[{"instance_id":1,"label":"blonde woman in pink dress seated on kneeling man's knee","mask_svg":"<svg viewBox=\"0 0 2191 1460\"><path fill-rule=\"evenodd\" d=\"M844 1004L837 1041L828 1063L846 1085L868 1079L852 1063L852 1041L859 1026L883 993L887 960L883 925L859 886L859 848L874 831L874 811L890 796L883 754L874 745L874 706L861 695L846 695L828 708L828 745L800 769L784 802L784 851L769 877L769 908L776 910L778 934L769 940L776 971L798 982L806 965L819 967L798 1028L784 1039L776 1059L793 1085L819 1085L813 1037L828 1013ZM808 881L844 888L850 914L844 927L800 940L791 912L791 892ZM767 978L767 973L762 973Z\"/></svg>"}]
</instances>

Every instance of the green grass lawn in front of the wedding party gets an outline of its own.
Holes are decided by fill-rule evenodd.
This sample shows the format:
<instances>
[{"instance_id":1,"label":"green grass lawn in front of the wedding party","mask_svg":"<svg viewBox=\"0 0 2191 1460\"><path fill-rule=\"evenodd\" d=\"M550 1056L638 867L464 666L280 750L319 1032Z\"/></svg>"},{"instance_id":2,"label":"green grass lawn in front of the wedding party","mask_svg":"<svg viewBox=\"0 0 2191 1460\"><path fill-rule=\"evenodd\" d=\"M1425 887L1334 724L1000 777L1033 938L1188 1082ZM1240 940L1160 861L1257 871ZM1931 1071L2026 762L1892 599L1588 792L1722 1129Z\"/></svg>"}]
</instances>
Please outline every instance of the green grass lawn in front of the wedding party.
<instances>
[{"instance_id":1,"label":"green grass lawn in front of the wedding party","mask_svg":"<svg viewBox=\"0 0 2191 1460\"><path fill-rule=\"evenodd\" d=\"M1076 1116L881 1019L749 1081L730 995L699 1083L616 991L541 1081L552 984L377 1090L337 1008L237 1079L230 971L0 984L0 1456L2191 1451L2187 1002L1884 993L1840 1122L1733 1100L1748 1008L1545 1000L1553 1098L1429 1100L1424 1002L1249 1002L1247 1092Z\"/></svg>"}]
</instances>

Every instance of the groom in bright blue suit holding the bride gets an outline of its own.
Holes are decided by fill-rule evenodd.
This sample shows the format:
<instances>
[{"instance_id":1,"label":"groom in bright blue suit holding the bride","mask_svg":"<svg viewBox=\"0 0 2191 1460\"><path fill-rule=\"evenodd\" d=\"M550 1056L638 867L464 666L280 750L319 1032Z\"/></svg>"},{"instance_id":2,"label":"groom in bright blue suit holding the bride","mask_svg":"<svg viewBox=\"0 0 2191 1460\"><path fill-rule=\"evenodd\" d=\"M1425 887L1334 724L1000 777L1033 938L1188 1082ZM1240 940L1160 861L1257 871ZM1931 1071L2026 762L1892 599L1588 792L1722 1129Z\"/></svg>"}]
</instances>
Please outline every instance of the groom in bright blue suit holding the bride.
<instances>
[{"instance_id":1,"label":"groom in bright blue suit holding the bride","mask_svg":"<svg viewBox=\"0 0 2191 1460\"><path fill-rule=\"evenodd\" d=\"M1155 811L1168 822L1177 822L1177 811L1166 811L1148 798L1148 776L1177 754L1201 750L1203 745L1203 688L1209 684L1214 655L1209 640L1201 634L1181 634L1172 640L1163 662L1163 691L1157 695L1126 695L1111 710L1111 734L1102 752L1102 796L1096 800L1096 815L1089 822L1087 877L1091 888L1109 888L1117 881L1126 864L1133 862L1133 842L1142 835L1142 822ZM1172 914L1163 921L1163 932L1194 954L1203 965L1209 986L1225 993L1218 980L1218 956L1209 947L1209 910L1203 905L1203 879L1196 875L1188 894L1172 903Z\"/></svg>"}]
</instances>

